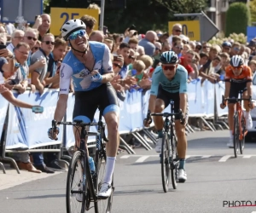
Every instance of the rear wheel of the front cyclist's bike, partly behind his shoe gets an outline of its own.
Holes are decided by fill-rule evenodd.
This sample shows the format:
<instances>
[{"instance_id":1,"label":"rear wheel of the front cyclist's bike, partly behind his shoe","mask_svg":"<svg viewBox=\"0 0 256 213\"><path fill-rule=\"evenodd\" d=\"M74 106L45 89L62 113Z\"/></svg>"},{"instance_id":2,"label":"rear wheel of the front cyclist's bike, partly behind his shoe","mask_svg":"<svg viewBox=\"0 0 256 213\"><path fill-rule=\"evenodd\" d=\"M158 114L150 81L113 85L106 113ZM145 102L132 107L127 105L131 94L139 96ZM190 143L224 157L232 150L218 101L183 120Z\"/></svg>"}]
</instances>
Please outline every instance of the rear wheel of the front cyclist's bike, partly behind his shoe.
<instances>
[{"instance_id":1,"label":"rear wheel of the front cyclist's bike, partly behind his shoe","mask_svg":"<svg viewBox=\"0 0 256 213\"><path fill-rule=\"evenodd\" d=\"M106 169L106 151L105 145L102 144L103 148L96 150L95 165L96 165L96 177L94 180L94 187L96 189L96 194L101 190L103 178ZM112 178L112 193L108 199L98 199L94 203L96 213L109 213L111 212L111 207L113 203L113 178Z\"/></svg>"}]
</instances>

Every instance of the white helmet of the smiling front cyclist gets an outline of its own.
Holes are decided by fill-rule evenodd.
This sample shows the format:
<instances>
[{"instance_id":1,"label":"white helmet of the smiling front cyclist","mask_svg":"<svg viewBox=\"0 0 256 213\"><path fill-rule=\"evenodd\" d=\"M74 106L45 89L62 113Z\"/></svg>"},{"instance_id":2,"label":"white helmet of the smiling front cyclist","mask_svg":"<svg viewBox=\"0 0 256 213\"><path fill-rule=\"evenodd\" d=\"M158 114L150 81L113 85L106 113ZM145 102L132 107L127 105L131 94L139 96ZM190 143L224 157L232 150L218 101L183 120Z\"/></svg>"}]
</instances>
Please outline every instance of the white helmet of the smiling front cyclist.
<instances>
[{"instance_id":1,"label":"white helmet of the smiling front cyclist","mask_svg":"<svg viewBox=\"0 0 256 213\"><path fill-rule=\"evenodd\" d=\"M68 20L61 27L61 36L67 41L67 38L80 29L86 30L86 26L82 20Z\"/></svg>"}]
</instances>

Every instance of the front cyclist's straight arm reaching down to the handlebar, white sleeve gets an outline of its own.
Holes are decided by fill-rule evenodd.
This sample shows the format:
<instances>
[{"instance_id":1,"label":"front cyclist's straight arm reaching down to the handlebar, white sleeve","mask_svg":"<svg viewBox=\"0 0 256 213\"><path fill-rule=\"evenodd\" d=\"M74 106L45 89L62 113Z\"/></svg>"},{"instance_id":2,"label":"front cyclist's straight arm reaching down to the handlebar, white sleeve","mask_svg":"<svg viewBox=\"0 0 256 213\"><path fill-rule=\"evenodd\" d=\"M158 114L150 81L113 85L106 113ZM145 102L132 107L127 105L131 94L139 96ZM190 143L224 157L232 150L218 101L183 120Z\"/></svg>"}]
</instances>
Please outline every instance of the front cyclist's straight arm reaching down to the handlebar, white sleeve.
<instances>
[{"instance_id":1,"label":"front cyclist's straight arm reaching down to the handlebar, white sleeve","mask_svg":"<svg viewBox=\"0 0 256 213\"><path fill-rule=\"evenodd\" d=\"M70 78L73 75L73 69L65 63L61 64L60 95L55 108L55 121L61 122L67 110L67 99L70 87Z\"/></svg>"}]
</instances>

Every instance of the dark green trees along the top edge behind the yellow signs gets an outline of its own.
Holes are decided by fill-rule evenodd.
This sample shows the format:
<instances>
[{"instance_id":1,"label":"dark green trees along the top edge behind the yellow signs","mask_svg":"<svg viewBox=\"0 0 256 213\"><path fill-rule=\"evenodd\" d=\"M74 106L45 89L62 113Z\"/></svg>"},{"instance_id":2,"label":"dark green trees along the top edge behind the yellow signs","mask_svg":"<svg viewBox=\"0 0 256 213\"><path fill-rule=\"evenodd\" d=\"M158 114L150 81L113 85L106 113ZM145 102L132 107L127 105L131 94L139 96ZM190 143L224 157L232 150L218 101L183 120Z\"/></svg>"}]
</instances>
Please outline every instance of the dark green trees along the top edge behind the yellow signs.
<instances>
[{"instance_id":1,"label":"dark green trees along the top edge behind the yellow signs","mask_svg":"<svg viewBox=\"0 0 256 213\"><path fill-rule=\"evenodd\" d=\"M109 32L123 33L134 24L139 33L145 33L159 29L168 32L168 21L184 20L173 14L199 13L207 0L126 0L126 8L118 9L109 9L108 0L105 2L104 26L108 26ZM91 3L100 5L98 1L91 0ZM49 13L50 7L87 8L89 4L86 0L50 0L45 12Z\"/></svg>"}]
</instances>

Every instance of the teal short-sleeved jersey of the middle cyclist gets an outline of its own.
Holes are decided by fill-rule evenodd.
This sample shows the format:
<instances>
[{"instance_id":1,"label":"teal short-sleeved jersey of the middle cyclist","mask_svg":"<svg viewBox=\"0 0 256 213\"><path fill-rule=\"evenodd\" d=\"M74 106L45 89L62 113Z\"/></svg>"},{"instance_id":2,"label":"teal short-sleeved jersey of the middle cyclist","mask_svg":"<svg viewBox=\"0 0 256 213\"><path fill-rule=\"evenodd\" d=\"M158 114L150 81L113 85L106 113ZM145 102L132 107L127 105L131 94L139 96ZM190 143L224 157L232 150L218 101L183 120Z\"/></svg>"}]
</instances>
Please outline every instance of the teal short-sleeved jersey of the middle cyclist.
<instances>
[{"instance_id":1,"label":"teal short-sleeved jersey of the middle cyclist","mask_svg":"<svg viewBox=\"0 0 256 213\"><path fill-rule=\"evenodd\" d=\"M161 84L162 89L169 93L187 93L188 87L188 72L184 66L177 65L176 74L170 81L166 78L162 67L157 66L152 76L151 95L158 94L158 87Z\"/></svg>"}]
</instances>

